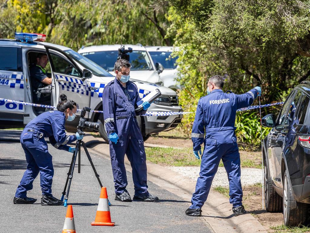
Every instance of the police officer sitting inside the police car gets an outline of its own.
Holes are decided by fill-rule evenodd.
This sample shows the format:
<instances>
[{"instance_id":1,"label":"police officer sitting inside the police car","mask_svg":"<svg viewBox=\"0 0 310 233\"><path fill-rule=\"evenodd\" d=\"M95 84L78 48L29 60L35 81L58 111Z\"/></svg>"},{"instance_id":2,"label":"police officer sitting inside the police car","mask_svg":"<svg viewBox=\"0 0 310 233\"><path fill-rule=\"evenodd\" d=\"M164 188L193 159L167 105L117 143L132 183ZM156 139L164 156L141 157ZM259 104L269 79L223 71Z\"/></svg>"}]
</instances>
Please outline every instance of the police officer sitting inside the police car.
<instances>
[{"instance_id":1,"label":"police officer sitting inside the police car","mask_svg":"<svg viewBox=\"0 0 310 233\"><path fill-rule=\"evenodd\" d=\"M36 64L29 69L31 79L31 86L33 91L34 103L50 103L51 97L43 97L38 88L45 87L52 83L51 77L47 76L44 69L47 65L48 57L46 53L38 53Z\"/></svg>"}]
</instances>

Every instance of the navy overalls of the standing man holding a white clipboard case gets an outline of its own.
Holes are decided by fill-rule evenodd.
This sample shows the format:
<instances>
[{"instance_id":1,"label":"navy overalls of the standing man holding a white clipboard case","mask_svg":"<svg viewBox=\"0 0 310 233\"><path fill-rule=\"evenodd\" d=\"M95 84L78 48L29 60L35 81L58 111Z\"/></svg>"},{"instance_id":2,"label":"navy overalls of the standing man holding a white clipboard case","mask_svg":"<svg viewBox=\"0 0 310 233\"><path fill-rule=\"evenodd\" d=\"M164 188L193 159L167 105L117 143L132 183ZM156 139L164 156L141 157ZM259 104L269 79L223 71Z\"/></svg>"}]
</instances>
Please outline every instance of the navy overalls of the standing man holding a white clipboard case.
<instances>
[{"instance_id":1,"label":"navy overalls of the standing man holding a white clipboard case","mask_svg":"<svg viewBox=\"0 0 310 233\"><path fill-rule=\"evenodd\" d=\"M128 81L126 88L115 78L103 90L104 128L107 134L115 132L119 140L109 142L115 193L120 195L128 184L124 165L125 153L132 168L135 195L147 195L147 170L143 137L136 116L146 111L135 112L140 100L137 86Z\"/></svg>"}]
</instances>

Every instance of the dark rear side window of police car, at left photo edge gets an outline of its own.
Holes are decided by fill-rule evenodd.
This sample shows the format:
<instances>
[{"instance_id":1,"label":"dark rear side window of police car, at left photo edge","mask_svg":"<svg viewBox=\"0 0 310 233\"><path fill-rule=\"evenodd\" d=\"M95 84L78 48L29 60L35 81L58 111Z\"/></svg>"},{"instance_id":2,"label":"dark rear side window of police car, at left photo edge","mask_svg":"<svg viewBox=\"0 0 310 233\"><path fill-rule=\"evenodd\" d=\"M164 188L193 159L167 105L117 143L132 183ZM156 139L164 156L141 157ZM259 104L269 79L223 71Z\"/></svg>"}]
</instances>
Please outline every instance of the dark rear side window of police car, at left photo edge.
<instances>
[{"instance_id":1,"label":"dark rear side window of police car, at left photo edge","mask_svg":"<svg viewBox=\"0 0 310 233\"><path fill-rule=\"evenodd\" d=\"M0 47L0 70L23 71L21 61L21 48Z\"/></svg>"}]
</instances>

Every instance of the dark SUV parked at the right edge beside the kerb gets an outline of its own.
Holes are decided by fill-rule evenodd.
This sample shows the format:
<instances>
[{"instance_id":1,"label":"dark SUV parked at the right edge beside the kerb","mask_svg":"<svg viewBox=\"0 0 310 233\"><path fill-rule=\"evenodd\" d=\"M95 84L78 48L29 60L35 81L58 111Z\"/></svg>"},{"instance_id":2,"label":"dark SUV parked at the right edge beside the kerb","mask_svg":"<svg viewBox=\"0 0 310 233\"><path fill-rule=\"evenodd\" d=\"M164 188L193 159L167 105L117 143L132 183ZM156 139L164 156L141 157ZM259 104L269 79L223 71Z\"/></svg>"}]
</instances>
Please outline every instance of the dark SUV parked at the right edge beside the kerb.
<instances>
[{"instance_id":1,"label":"dark SUV parked at the right edge beside the kerb","mask_svg":"<svg viewBox=\"0 0 310 233\"><path fill-rule=\"evenodd\" d=\"M296 86L275 114L263 140L265 205L281 212L286 226L307 225L310 208L310 81Z\"/></svg>"}]
</instances>

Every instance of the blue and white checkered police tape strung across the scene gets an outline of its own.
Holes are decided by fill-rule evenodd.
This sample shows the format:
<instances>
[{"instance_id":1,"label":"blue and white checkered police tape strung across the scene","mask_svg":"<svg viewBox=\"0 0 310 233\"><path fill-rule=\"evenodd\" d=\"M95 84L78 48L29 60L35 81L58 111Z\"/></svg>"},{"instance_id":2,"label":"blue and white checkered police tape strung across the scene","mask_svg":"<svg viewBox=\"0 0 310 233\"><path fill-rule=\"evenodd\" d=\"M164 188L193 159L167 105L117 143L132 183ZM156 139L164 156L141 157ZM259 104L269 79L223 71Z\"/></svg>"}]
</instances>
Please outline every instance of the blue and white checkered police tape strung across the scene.
<instances>
[{"instance_id":1,"label":"blue and white checkered police tape strung across the scene","mask_svg":"<svg viewBox=\"0 0 310 233\"><path fill-rule=\"evenodd\" d=\"M33 107L46 107L46 108L50 108L50 109L56 109L56 107L50 106L50 105L26 103L26 102L22 102L22 101L11 100L11 99L0 98L0 101L22 104L22 105L28 105L28 106L33 106ZM259 105L253 105L250 107L239 108L237 110L237 112L257 109L259 107L270 107L270 106L279 105L279 104L283 104L283 102L268 103L268 104L263 104L260 106ZM78 109L77 111L82 111L82 109ZM103 113L103 111L97 111L97 110L91 110L91 112ZM146 112L143 116L171 116L171 115L188 114L188 113L195 113L195 112Z\"/></svg>"}]
</instances>

